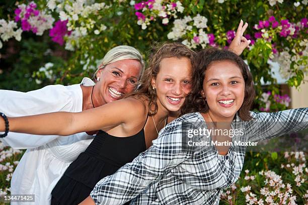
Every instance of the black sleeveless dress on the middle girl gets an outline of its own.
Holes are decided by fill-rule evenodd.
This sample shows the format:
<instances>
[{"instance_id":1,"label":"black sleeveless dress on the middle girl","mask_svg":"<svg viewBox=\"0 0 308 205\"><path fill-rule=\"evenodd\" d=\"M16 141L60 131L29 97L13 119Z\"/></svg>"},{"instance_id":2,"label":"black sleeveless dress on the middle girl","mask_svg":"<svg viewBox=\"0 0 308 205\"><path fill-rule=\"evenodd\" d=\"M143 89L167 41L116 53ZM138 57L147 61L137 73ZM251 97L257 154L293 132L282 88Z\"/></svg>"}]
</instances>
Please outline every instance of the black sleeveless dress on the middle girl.
<instances>
[{"instance_id":1,"label":"black sleeveless dress on the middle girl","mask_svg":"<svg viewBox=\"0 0 308 205\"><path fill-rule=\"evenodd\" d=\"M130 137L115 137L99 131L85 152L68 166L53 188L51 204L82 202L99 180L112 175L145 150L143 128Z\"/></svg>"}]
</instances>

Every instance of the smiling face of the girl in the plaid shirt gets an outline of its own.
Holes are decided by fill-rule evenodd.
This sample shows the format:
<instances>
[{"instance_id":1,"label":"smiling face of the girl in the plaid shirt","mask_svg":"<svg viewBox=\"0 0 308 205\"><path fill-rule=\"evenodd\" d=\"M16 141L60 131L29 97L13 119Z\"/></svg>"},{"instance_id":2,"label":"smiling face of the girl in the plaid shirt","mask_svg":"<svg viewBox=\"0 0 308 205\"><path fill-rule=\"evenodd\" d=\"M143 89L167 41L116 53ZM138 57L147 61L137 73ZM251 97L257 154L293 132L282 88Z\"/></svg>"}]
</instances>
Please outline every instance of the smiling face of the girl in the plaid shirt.
<instances>
[{"instance_id":1,"label":"smiling face of the girl in the plaid shirt","mask_svg":"<svg viewBox=\"0 0 308 205\"><path fill-rule=\"evenodd\" d=\"M232 121L245 95L245 81L239 66L228 60L211 63L205 71L201 94L213 121Z\"/></svg>"}]
</instances>

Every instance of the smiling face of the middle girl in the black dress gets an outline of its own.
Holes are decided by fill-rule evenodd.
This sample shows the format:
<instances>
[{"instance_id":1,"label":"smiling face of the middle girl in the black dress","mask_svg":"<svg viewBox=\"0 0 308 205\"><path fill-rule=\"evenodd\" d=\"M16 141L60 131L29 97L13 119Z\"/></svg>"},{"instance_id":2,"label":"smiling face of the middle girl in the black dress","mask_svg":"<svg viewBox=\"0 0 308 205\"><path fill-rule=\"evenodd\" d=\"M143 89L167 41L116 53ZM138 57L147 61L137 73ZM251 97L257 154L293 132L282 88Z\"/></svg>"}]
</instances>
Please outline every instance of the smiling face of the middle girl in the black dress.
<instances>
[{"instance_id":1,"label":"smiling face of the middle girl in the black dress","mask_svg":"<svg viewBox=\"0 0 308 205\"><path fill-rule=\"evenodd\" d=\"M192 65L188 58L164 58L160 64L160 71L152 79L152 86L156 87L159 108L167 112L180 110L185 96L191 91Z\"/></svg>"}]
</instances>

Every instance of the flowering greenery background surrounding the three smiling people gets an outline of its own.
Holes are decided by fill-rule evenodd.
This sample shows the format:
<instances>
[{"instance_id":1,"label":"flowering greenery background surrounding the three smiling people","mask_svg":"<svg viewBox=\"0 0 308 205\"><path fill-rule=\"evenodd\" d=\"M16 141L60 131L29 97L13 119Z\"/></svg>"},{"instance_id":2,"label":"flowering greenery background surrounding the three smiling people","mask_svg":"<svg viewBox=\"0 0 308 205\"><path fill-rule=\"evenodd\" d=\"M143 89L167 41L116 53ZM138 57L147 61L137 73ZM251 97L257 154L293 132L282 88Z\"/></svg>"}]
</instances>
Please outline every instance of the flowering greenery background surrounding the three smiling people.
<instances>
[{"instance_id":1,"label":"flowering greenery background surrounding the three smiling people","mask_svg":"<svg viewBox=\"0 0 308 205\"><path fill-rule=\"evenodd\" d=\"M79 83L92 77L105 53L118 45L136 47L145 59L157 42L182 42L196 51L228 48L242 19L249 23L245 37L252 41L242 57L254 76L253 110L308 107L307 3L0 1L0 89ZM7 194L23 151L2 144L0 151L0 194ZM241 178L224 190L220 203L308 204L306 159L304 150L247 153ZM279 186L269 183L277 178Z\"/></svg>"}]
</instances>

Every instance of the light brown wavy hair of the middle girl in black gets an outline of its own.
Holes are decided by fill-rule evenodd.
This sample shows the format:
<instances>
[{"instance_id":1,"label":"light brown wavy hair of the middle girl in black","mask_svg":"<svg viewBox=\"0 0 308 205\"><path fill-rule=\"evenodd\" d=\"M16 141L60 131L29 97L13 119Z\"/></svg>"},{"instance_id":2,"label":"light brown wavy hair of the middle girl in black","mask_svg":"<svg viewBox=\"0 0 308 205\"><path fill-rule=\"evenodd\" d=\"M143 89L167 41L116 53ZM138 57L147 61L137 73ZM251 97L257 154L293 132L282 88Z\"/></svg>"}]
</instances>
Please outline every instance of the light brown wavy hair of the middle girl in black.
<instances>
[{"instance_id":1,"label":"light brown wavy hair of the middle girl in black","mask_svg":"<svg viewBox=\"0 0 308 205\"><path fill-rule=\"evenodd\" d=\"M158 110L156 90L151 85L151 79L156 78L160 71L160 65L164 58L186 57L193 65L196 53L181 43L164 43L163 45L153 46L153 55L148 60L148 66L141 76L141 80L137 85L137 91L127 94L125 97L134 96L140 100L148 100L148 114L155 115ZM193 66L192 66L193 67ZM179 72L181 72L179 70ZM194 68L193 68L194 73Z\"/></svg>"}]
</instances>

